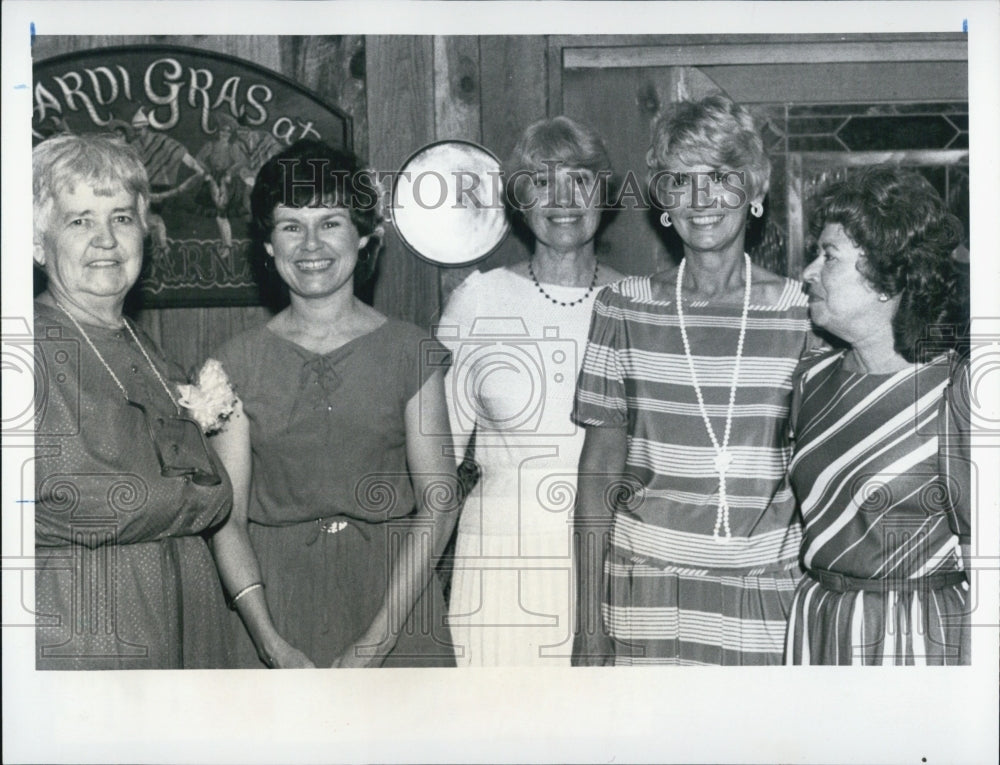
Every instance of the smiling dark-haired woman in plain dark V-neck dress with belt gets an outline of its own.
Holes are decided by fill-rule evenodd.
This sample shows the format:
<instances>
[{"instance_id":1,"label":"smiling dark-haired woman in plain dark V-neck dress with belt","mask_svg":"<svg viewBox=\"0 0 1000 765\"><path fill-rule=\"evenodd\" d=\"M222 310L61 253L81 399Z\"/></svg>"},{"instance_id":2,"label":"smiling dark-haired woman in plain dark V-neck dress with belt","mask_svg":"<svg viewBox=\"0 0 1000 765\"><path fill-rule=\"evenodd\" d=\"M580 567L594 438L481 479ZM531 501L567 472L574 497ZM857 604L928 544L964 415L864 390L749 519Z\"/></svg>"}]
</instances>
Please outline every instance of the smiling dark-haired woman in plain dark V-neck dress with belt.
<instances>
[{"instance_id":1,"label":"smiling dark-haired woman in plain dark V-neck dress with belt","mask_svg":"<svg viewBox=\"0 0 1000 765\"><path fill-rule=\"evenodd\" d=\"M244 666L455 663L433 574L457 515L448 352L354 294L377 202L358 159L319 141L268 160L251 194L290 304L218 353L241 403L213 439L233 480L213 549Z\"/></svg>"}]
</instances>

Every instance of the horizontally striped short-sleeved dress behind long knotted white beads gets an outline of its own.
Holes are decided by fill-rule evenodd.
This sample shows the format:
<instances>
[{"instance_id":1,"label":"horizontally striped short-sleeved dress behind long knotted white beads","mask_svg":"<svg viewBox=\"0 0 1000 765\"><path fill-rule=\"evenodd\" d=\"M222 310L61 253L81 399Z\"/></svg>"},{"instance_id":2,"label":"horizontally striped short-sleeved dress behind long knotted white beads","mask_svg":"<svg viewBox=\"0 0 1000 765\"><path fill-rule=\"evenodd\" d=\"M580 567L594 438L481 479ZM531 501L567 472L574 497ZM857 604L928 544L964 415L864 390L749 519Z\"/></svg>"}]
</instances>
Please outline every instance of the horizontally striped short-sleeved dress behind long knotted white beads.
<instances>
[{"instance_id":1,"label":"horizontally striped short-sleeved dress behind long knotted white beads","mask_svg":"<svg viewBox=\"0 0 1000 765\"><path fill-rule=\"evenodd\" d=\"M715 452L685 358L670 284L633 277L594 305L574 417L623 427L626 472L605 559L616 664L778 664L801 572L787 484L792 373L809 338L801 285L750 305L727 473L732 538L714 536ZM695 371L721 443L741 305L684 304Z\"/></svg>"}]
</instances>

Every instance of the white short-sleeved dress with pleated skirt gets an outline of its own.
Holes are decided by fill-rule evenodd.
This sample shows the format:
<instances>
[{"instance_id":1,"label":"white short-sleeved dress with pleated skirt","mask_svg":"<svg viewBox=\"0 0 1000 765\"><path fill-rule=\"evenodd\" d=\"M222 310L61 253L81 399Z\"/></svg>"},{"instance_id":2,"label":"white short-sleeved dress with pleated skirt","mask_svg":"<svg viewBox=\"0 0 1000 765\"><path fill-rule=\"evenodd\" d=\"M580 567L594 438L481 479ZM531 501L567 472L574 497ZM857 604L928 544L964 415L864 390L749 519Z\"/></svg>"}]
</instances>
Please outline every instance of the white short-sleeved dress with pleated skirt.
<instances>
[{"instance_id":1,"label":"white short-sleeved dress with pleated skirt","mask_svg":"<svg viewBox=\"0 0 1000 765\"><path fill-rule=\"evenodd\" d=\"M449 626L459 666L569 666L584 430L570 420L594 297L505 268L452 294L438 337L452 432L481 477L458 524ZM459 448L461 459L464 448Z\"/></svg>"}]
</instances>

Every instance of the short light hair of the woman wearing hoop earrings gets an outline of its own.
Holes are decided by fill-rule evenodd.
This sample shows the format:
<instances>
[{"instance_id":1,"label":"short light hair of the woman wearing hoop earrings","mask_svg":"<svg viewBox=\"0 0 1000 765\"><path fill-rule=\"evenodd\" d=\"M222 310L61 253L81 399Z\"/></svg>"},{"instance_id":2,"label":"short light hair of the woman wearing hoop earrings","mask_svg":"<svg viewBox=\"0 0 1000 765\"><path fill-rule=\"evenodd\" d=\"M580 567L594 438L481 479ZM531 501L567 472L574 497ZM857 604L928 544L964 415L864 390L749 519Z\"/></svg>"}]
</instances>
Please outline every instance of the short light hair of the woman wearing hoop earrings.
<instances>
[{"instance_id":1,"label":"short light hair of the woman wearing hoop earrings","mask_svg":"<svg viewBox=\"0 0 1000 765\"><path fill-rule=\"evenodd\" d=\"M653 120L646 167L650 179L686 165L745 169L750 196L764 196L771 185L771 160L753 116L723 95L671 103Z\"/></svg>"}]
</instances>

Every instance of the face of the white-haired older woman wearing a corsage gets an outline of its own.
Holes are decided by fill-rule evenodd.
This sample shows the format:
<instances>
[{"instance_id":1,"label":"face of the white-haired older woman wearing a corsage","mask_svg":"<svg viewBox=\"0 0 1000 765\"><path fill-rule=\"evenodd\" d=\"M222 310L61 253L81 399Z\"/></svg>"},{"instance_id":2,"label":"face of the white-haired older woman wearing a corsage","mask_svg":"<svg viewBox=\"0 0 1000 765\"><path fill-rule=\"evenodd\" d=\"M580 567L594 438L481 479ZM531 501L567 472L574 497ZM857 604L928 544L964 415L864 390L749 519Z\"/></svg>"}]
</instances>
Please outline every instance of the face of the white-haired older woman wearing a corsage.
<instances>
[{"instance_id":1,"label":"face of the white-haired older woman wearing a corsage","mask_svg":"<svg viewBox=\"0 0 1000 765\"><path fill-rule=\"evenodd\" d=\"M35 260L57 300L97 313L120 307L139 278L143 235L135 194L81 182L55 194Z\"/></svg>"}]
</instances>

